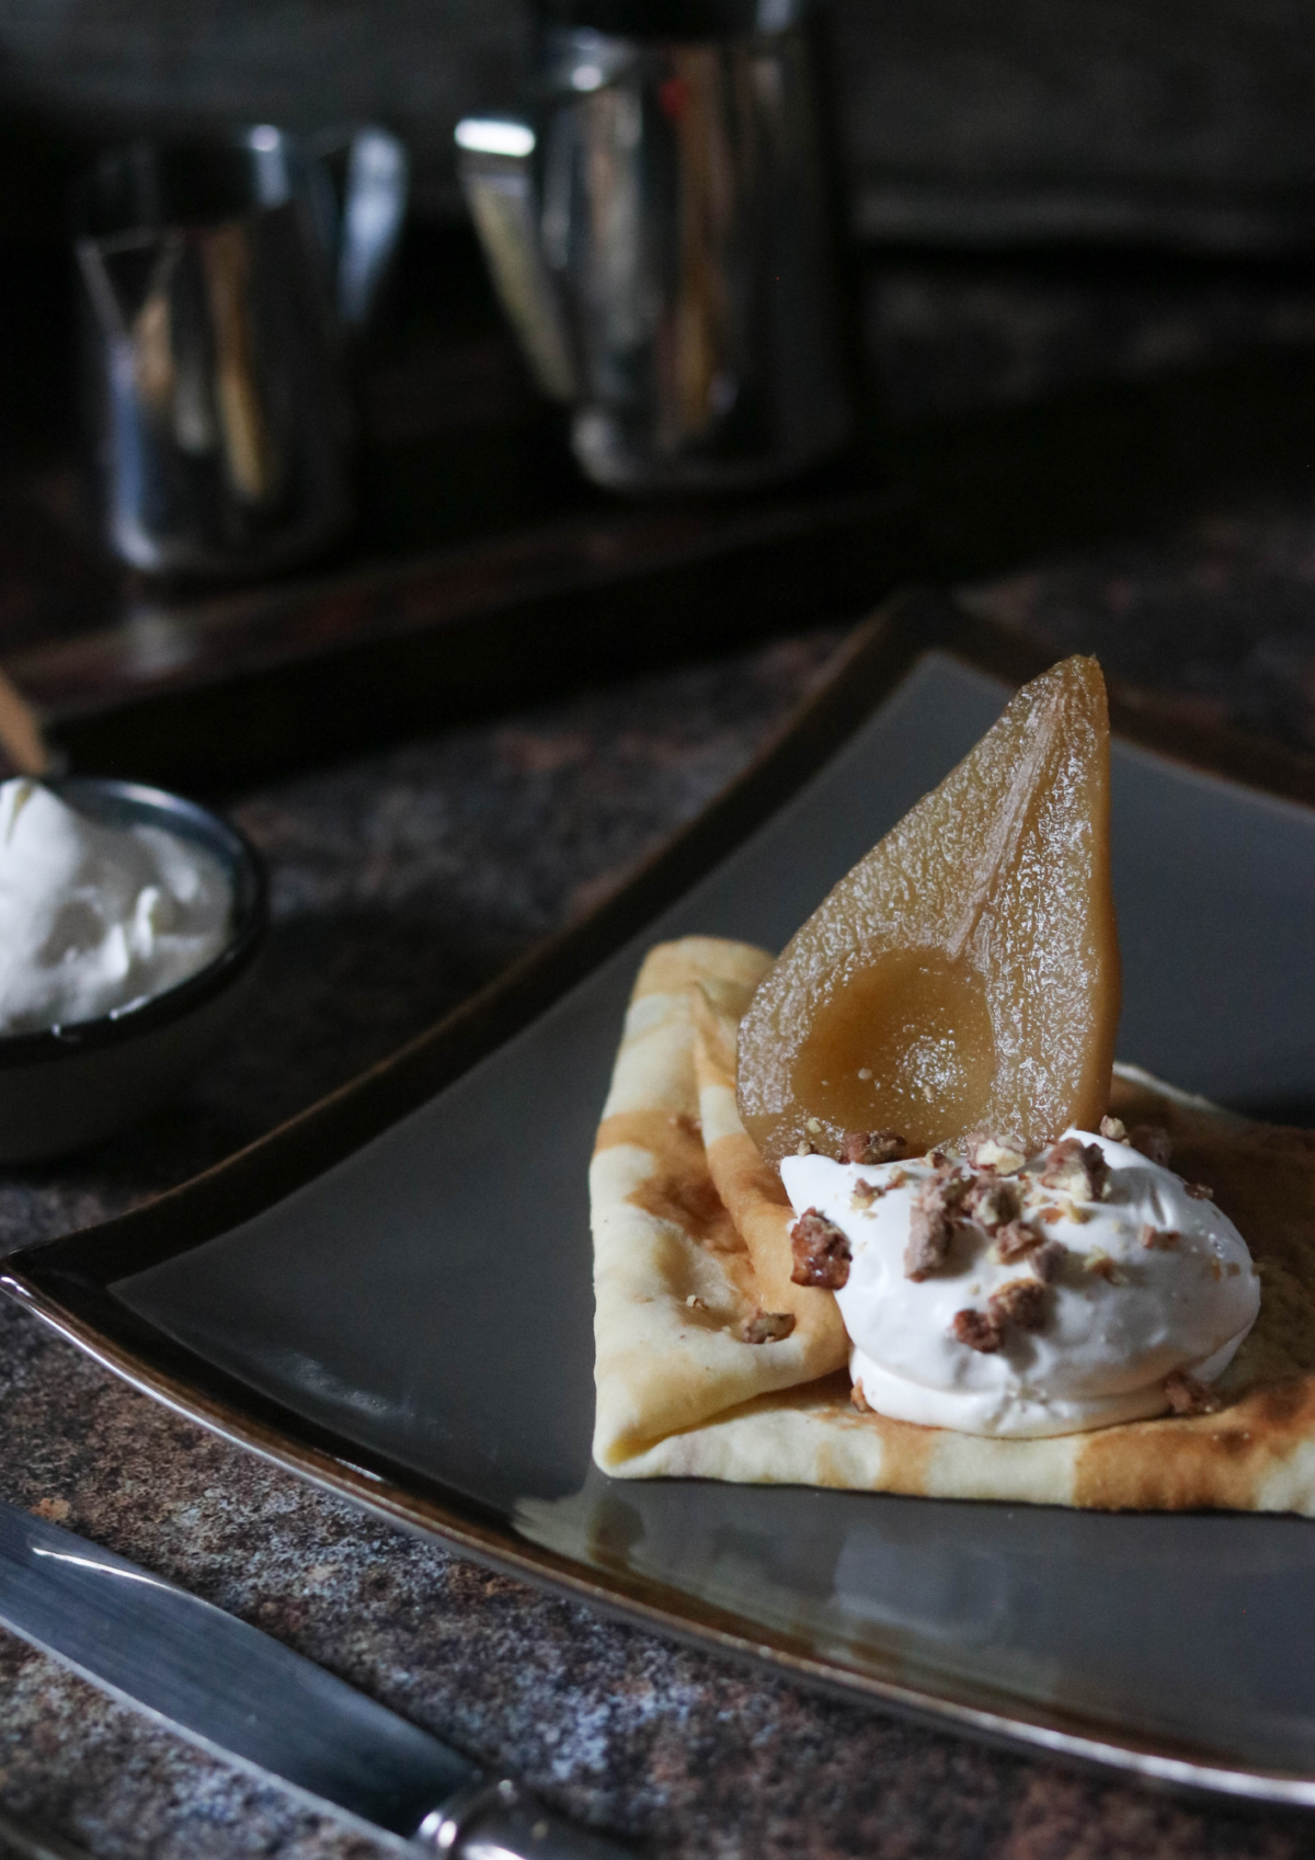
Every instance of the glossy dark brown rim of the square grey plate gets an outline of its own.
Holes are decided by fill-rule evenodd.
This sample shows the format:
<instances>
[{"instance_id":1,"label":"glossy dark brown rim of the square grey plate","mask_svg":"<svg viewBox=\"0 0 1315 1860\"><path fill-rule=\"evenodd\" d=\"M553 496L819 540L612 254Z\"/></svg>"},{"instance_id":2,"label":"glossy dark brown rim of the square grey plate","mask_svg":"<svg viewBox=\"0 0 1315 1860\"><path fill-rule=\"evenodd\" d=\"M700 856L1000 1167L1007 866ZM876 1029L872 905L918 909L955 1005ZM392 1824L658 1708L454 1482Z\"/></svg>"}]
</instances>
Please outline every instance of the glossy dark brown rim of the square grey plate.
<instances>
[{"instance_id":1,"label":"glossy dark brown rim of the square grey plate","mask_svg":"<svg viewBox=\"0 0 1315 1860\"><path fill-rule=\"evenodd\" d=\"M285 1200L504 1045L770 818L934 651L1006 683L1023 683L1053 662L1043 645L975 619L943 593L895 595L850 636L820 686L744 774L593 913L530 950L394 1055L236 1155L139 1209L11 1254L0 1269L0 1291L175 1414L391 1523L433 1534L461 1555L603 1613L1016 1750L1021 1745L1216 1797L1315 1808L1315 1763L1309 1771L1231 1763L1192 1741L1120 1732L1094 1713L1030 1707L1004 1685L960 1676L932 1689L863 1672L841 1654L807 1650L802 1635L697 1601L673 1585L623 1568L588 1570L519 1536L491 1507L383 1453L342 1442L331 1428L251 1389L108 1291L112 1280L190 1252ZM1161 759L1315 809L1315 757L1202 727L1170 703L1118 681L1110 681L1110 720L1118 737Z\"/></svg>"}]
</instances>

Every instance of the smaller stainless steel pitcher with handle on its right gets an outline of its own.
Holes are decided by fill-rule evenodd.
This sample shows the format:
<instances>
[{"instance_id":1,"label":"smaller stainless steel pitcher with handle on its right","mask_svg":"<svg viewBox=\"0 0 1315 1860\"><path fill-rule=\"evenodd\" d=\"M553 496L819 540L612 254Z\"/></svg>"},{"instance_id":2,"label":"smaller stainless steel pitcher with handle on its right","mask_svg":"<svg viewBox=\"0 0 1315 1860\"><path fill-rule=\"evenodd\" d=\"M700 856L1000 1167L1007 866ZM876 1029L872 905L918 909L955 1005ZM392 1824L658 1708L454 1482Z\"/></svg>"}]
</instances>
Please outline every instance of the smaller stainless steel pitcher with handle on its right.
<instances>
[{"instance_id":1,"label":"smaller stainless steel pitcher with handle on its right","mask_svg":"<svg viewBox=\"0 0 1315 1860\"><path fill-rule=\"evenodd\" d=\"M253 575L352 517L344 337L405 203L383 130L333 173L268 125L106 154L78 197L84 400L104 541L132 567Z\"/></svg>"}]
</instances>

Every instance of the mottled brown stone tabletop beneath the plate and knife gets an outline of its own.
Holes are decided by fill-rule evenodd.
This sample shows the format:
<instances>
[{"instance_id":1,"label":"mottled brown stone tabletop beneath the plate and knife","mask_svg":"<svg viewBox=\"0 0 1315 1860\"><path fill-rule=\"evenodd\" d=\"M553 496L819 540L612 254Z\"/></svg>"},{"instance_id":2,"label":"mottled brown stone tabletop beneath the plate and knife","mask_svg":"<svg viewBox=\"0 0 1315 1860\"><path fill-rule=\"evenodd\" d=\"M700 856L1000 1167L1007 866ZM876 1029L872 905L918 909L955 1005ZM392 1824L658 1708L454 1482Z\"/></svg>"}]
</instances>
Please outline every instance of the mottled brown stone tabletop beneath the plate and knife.
<instances>
[{"instance_id":1,"label":"mottled brown stone tabletop beneath the plate and knife","mask_svg":"<svg viewBox=\"0 0 1315 1860\"><path fill-rule=\"evenodd\" d=\"M1315 510L1040 565L973 599L1056 649L1315 740ZM1129 614L1133 616L1129 619ZM190 1176L586 910L824 670L815 634L247 796L275 932L251 1025L184 1101L0 1183L4 1244ZM1241 668L1241 670L1239 670ZM1250 668L1250 670L1248 670ZM1315 1819L980 1748L668 1646L409 1538L0 1309L0 1494L175 1577L556 1806L718 1860L1296 1860ZM0 1635L0 1810L104 1860L365 1860L381 1843Z\"/></svg>"}]
</instances>

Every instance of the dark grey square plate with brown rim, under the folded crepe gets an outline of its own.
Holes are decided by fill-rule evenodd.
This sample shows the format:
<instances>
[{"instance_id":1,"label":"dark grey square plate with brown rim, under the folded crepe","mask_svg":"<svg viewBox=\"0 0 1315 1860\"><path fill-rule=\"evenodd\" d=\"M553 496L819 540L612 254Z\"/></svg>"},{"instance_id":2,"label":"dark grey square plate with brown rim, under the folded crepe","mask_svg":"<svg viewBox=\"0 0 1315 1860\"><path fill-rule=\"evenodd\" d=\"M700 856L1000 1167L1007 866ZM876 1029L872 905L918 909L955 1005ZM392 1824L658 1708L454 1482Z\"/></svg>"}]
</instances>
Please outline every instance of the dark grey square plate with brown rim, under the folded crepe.
<instances>
[{"instance_id":1,"label":"dark grey square plate with brown rim, under the folded crepe","mask_svg":"<svg viewBox=\"0 0 1315 1860\"><path fill-rule=\"evenodd\" d=\"M651 1626L978 1734L1315 1804L1309 1521L590 1468L586 1162L642 950L688 930L779 945L1036 670L1008 658L945 603L900 603L595 919L223 1168L17 1256L6 1287L229 1438ZM1172 718L1116 718L1202 759ZM1116 750L1122 1051L1226 1103L1300 1110L1309 777L1211 753L1252 785Z\"/></svg>"}]
</instances>

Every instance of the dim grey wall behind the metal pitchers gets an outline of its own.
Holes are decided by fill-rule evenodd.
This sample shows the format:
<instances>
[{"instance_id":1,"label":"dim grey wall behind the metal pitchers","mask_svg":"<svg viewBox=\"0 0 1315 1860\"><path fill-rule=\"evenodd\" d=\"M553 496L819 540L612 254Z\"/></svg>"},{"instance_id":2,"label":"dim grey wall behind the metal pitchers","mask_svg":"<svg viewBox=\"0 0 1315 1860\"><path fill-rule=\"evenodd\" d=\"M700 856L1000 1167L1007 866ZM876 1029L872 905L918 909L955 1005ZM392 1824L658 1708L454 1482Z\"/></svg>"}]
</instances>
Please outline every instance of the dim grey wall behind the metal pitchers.
<instances>
[{"instance_id":1,"label":"dim grey wall behind the metal pitchers","mask_svg":"<svg viewBox=\"0 0 1315 1860\"><path fill-rule=\"evenodd\" d=\"M1302 0L839 0L863 238L1155 238L1296 249L1315 227ZM517 0L6 0L0 110L78 132L379 117L422 210L458 210L452 125L515 100ZM0 214L32 203L6 188Z\"/></svg>"}]
</instances>

